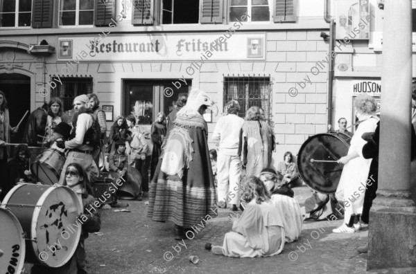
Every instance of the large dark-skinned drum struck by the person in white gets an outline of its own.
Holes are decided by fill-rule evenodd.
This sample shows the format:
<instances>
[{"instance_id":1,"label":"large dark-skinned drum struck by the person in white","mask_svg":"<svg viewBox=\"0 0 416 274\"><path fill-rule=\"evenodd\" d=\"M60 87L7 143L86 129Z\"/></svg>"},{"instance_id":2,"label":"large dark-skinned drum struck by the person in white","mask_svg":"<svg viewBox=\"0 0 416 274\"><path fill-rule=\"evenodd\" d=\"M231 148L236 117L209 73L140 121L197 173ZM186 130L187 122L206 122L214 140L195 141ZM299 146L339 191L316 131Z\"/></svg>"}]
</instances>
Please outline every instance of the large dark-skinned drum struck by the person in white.
<instances>
[{"instance_id":1,"label":"large dark-skinned drum struck by the person in white","mask_svg":"<svg viewBox=\"0 0 416 274\"><path fill-rule=\"evenodd\" d=\"M338 187L344 165L336 161L348 154L351 140L349 136L340 134L317 134L300 147L297 156L300 176L306 185L320 193L335 193Z\"/></svg>"}]
</instances>

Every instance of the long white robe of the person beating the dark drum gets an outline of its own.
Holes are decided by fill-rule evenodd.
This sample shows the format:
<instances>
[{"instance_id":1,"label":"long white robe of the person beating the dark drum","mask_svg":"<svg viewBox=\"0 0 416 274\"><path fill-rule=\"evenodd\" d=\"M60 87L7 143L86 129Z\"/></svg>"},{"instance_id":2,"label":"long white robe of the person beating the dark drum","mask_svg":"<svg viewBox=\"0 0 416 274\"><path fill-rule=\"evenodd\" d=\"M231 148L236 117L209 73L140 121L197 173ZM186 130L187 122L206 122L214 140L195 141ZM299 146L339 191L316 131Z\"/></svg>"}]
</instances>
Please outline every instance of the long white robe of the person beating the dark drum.
<instances>
[{"instance_id":1,"label":"long white robe of the person beating the dark drum","mask_svg":"<svg viewBox=\"0 0 416 274\"><path fill-rule=\"evenodd\" d=\"M351 145L348 154L357 152L358 157L352 159L343 168L340 182L336 190L336 199L345 201L345 221L349 221L352 214L361 214L363 212L364 193L358 188L365 185L372 159L363 157L363 146L367 143L361 136L365 132L374 132L377 127L379 118L370 116L358 125L354 136L351 138ZM370 175L371 176L371 175Z\"/></svg>"}]
</instances>

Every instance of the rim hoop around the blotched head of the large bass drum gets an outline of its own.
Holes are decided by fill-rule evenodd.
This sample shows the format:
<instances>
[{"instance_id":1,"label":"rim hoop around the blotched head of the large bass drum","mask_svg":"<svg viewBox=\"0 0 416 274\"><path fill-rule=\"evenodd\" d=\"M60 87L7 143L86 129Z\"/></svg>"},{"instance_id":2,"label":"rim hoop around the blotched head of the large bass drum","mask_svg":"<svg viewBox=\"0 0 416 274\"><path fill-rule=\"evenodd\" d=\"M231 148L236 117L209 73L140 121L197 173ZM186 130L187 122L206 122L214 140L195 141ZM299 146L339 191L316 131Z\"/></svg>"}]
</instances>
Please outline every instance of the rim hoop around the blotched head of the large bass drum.
<instances>
[{"instance_id":1,"label":"rim hoop around the blotched head of the large bass drum","mask_svg":"<svg viewBox=\"0 0 416 274\"><path fill-rule=\"evenodd\" d=\"M71 194L71 196L73 196L73 198L75 198L74 200L76 201L76 203L78 203L78 208L83 208L83 206L80 205L80 201L78 200L78 197L76 197L76 194L71 190L71 188L68 188L65 185L50 185L49 188L41 195L39 200L37 200L37 204L36 204L37 206L35 207L35 210L33 211L33 217L32 217L32 221L31 221L31 235L35 235L35 237L37 237L36 227L37 227L37 222L39 220L39 214L40 214L41 206L44 203L44 201L46 200L46 197L48 197L49 194L53 190L56 190L57 188L67 189L69 194ZM77 217L77 219L78 219L78 217ZM57 267L63 266L64 264L67 264L67 262L69 262L69 260L72 258L73 254L75 253L76 249L78 248L78 243L79 243L80 237L81 237L81 230L83 230L83 229L82 228L78 229L78 232L75 235L76 236L76 238L75 238L76 239L76 245L73 246L73 248L71 250L71 253L69 253L70 255L67 256L67 259L65 259L61 264L53 266L53 268L57 268ZM39 249L37 248L37 243L35 243L35 241L32 241L32 247L33 247L33 251L34 251L35 255L39 258L40 252L39 252ZM46 264L46 261L43 261L42 264L45 264L45 265L49 266L49 264Z\"/></svg>"}]
</instances>

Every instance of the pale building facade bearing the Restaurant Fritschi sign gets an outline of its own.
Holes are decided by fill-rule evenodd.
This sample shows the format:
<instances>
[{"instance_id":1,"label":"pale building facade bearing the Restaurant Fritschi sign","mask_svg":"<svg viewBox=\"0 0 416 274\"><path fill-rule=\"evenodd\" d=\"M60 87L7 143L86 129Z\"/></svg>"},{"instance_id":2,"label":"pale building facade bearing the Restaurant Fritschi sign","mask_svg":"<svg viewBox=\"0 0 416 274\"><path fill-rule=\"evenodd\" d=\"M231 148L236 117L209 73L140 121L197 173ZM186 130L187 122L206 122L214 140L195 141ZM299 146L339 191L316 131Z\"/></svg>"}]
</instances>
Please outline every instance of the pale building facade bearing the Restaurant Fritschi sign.
<instances>
[{"instance_id":1,"label":"pale building facade bearing the Restaurant Fritschi sign","mask_svg":"<svg viewBox=\"0 0 416 274\"><path fill-rule=\"evenodd\" d=\"M148 130L178 93L198 88L220 109L205 115L209 133L227 100L240 101L241 116L262 107L275 129L275 165L327 131L324 0L0 0L0 18L0 90L12 126L51 97L68 111L76 95L94 92L108 129L134 113ZM365 42L340 50L336 66L348 69L336 71L333 121L351 117L345 81L376 80L369 68L378 60Z\"/></svg>"}]
</instances>

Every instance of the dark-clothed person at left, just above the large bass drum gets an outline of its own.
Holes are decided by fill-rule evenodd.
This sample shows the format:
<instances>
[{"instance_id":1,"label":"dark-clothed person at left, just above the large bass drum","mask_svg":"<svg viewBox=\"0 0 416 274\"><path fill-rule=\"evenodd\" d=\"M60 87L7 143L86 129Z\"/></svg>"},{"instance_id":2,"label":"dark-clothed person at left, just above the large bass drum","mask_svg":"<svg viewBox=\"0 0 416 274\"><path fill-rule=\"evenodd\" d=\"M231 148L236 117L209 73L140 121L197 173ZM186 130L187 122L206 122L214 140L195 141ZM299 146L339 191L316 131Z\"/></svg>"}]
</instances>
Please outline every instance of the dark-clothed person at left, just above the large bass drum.
<instances>
[{"instance_id":1,"label":"dark-clothed person at left, just above the large bass drum","mask_svg":"<svg viewBox=\"0 0 416 274\"><path fill-rule=\"evenodd\" d=\"M32 172L29 167L30 157L29 149L27 145L21 144L15 148L15 158L8 161L6 165L6 177L5 180L8 182L7 188L4 188L2 193L6 196L16 183L30 183L32 181Z\"/></svg>"}]
</instances>

